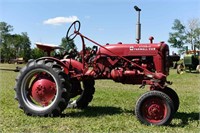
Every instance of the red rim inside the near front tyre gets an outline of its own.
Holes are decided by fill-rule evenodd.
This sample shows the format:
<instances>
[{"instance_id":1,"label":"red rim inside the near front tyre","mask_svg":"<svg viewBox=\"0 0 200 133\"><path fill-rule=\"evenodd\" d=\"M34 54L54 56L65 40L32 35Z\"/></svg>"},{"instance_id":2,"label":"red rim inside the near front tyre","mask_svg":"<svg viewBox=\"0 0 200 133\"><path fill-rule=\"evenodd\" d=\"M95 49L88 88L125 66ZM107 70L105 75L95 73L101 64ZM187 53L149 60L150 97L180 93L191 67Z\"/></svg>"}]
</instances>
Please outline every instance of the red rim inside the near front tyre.
<instances>
[{"instance_id":1,"label":"red rim inside the near front tyre","mask_svg":"<svg viewBox=\"0 0 200 133\"><path fill-rule=\"evenodd\" d=\"M167 116L166 103L157 97L148 98L142 105L142 114L149 123L159 123Z\"/></svg>"}]
</instances>

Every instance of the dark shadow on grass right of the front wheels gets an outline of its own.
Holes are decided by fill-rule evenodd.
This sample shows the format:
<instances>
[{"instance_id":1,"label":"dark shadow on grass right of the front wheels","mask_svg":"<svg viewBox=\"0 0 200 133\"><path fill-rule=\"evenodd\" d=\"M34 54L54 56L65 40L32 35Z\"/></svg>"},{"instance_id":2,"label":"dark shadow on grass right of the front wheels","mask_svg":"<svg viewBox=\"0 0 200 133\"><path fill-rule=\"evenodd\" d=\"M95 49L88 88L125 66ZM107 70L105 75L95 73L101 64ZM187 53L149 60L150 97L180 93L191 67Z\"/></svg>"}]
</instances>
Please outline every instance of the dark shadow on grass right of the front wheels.
<instances>
[{"instance_id":1,"label":"dark shadow on grass right of the front wheels","mask_svg":"<svg viewBox=\"0 0 200 133\"><path fill-rule=\"evenodd\" d=\"M191 113L185 113L185 112L177 112L174 115L174 119L180 119L181 122L178 124L173 124L174 127L184 127L189 125L189 121L197 121L198 124L200 124L200 113L197 112L191 112Z\"/></svg>"}]
</instances>

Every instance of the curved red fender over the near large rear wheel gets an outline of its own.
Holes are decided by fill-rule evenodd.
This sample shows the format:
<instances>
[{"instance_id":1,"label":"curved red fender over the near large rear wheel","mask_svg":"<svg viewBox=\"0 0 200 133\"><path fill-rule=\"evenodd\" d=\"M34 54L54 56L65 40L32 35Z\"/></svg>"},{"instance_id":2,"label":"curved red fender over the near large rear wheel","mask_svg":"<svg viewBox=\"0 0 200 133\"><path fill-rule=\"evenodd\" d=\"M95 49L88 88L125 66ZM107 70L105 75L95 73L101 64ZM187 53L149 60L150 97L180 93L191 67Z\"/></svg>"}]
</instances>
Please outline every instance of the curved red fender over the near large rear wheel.
<instances>
[{"instance_id":1,"label":"curved red fender over the near large rear wheel","mask_svg":"<svg viewBox=\"0 0 200 133\"><path fill-rule=\"evenodd\" d=\"M64 71L66 74L69 74L69 66L67 64L65 64L64 62L62 62L61 60L58 60L57 58L53 58L53 57L41 57L39 59L36 59L36 61L38 60L52 60L55 61L57 64L59 64L60 66L62 66L64 68Z\"/></svg>"}]
</instances>

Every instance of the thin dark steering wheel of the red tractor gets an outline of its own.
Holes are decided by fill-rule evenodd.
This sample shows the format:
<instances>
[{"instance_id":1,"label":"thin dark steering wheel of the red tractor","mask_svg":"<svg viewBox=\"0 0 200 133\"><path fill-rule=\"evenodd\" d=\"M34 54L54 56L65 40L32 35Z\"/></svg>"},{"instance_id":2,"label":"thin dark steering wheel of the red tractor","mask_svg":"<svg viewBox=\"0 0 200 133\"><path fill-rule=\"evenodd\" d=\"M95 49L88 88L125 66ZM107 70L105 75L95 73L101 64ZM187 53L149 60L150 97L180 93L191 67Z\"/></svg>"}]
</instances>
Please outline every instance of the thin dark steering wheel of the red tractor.
<instances>
[{"instance_id":1,"label":"thin dark steering wheel of the red tractor","mask_svg":"<svg viewBox=\"0 0 200 133\"><path fill-rule=\"evenodd\" d=\"M74 27L74 31L72 31L72 27ZM81 27L80 21L78 20L74 21L67 30L66 39L69 41L73 40L78 35L77 32L79 32L80 27Z\"/></svg>"}]
</instances>

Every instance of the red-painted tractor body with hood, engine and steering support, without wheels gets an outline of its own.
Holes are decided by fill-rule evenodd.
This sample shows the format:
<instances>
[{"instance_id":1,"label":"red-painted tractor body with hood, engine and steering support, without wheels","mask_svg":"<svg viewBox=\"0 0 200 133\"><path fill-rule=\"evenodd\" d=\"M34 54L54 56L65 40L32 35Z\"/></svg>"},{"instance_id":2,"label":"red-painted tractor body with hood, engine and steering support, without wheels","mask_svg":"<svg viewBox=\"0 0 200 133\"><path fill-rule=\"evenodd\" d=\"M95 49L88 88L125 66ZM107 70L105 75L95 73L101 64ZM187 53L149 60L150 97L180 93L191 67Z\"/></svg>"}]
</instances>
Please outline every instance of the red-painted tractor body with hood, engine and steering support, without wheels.
<instances>
[{"instance_id":1,"label":"red-painted tractor body with hood, engine and steering support, without wheels","mask_svg":"<svg viewBox=\"0 0 200 133\"><path fill-rule=\"evenodd\" d=\"M80 55L82 62L74 59L52 59L60 64L70 78L93 77L94 79L112 79L123 84L145 84L150 89L160 89L165 86L166 76L169 74L169 47L164 42L145 44L107 44L101 45L90 38L75 31L81 37L82 50ZM86 61L85 40L99 46L96 55L90 64ZM44 48L44 47L43 47ZM47 47L46 47L47 48ZM51 47L48 47L52 50Z\"/></svg>"}]
</instances>

